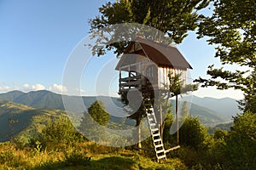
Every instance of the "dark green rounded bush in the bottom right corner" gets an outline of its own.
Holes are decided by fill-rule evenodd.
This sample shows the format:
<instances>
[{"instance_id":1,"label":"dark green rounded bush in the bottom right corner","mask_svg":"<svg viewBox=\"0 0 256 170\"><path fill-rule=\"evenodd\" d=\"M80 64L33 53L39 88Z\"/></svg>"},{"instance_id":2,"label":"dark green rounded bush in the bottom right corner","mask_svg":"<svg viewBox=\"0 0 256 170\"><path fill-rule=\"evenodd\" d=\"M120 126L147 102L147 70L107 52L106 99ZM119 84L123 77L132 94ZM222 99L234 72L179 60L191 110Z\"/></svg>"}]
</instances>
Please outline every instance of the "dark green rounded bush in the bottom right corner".
<instances>
[{"instance_id":1,"label":"dark green rounded bush in the bottom right corner","mask_svg":"<svg viewBox=\"0 0 256 170\"><path fill-rule=\"evenodd\" d=\"M226 143L227 169L255 169L256 114L248 111L237 116Z\"/></svg>"}]
</instances>

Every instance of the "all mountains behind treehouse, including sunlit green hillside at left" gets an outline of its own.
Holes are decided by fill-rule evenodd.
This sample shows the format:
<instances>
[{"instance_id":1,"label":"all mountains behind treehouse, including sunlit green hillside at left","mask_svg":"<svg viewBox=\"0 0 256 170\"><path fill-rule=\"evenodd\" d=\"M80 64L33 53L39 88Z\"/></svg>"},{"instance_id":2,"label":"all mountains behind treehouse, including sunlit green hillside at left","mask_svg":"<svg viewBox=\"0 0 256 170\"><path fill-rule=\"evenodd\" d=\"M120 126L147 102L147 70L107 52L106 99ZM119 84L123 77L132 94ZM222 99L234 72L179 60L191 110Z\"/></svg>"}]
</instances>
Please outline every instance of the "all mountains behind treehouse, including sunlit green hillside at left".
<instances>
[{"instance_id":1,"label":"all mountains behind treehouse, including sunlit green hillside at left","mask_svg":"<svg viewBox=\"0 0 256 170\"><path fill-rule=\"evenodd\" d=\"M109 123L114 126L115 123L133 126L134 121L127 119L128 116L123 105L118 98L106 96L85 96L82 100L85 105L77 105L76 101L81 99L79 96L65 96L70 102L69 108L73 111L73 119L80 120L86 108L96 101L102 100L106 105L107 111L111 114ZM218 128L229 128L231 124L230 116L235 116L239 111L236 109L235 99L212 99L194 97L192 100L183 98L182 101L188 100L190 105L189 114L199 117L200 121L206 126L214 127L223 124ZM192 102L192 103L189 103ZM174 101L172 100L172 105ZM209 109L210 108L210 109ZM212 110L211 110L212 109ZM172 107L174 112L174 107ZM11 139L20 133L31 134L33 130L40 131L49 120L55 116L67 114L62 102L61 94L55 94L46 90L23 93L12 91L0 94L0 142ZM79 122L77 122L79 124ZM119 126L116 124L116 126ZM214 129L214 128L213 128Z\"/></svg>"}]
</instances>

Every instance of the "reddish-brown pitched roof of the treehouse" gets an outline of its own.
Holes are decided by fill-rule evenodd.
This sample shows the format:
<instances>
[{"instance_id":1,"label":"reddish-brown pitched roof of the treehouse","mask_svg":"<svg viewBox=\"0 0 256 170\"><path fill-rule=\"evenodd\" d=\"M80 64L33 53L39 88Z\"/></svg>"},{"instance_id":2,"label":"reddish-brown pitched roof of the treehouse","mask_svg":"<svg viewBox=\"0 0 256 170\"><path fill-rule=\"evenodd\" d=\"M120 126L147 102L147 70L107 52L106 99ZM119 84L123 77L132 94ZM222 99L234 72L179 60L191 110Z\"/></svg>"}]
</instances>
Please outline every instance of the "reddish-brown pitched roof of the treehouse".
<instances>
[{"instance_id":1,"label":"reddish-brown pitched roof of the treehouse","mask_svg":"<svg viewBox=\"0 0 256 170\"><path fill-rule=\"evenodd\" d=\"M143 37L137 37L137 42L130 42L125 49L125 54L119 59L116 70L123 66L132 65L137 60L150 59L160 67L187 70L192 69L189 62L178 49L162 42L153 42Z\"/></svg>"}]
</instances>

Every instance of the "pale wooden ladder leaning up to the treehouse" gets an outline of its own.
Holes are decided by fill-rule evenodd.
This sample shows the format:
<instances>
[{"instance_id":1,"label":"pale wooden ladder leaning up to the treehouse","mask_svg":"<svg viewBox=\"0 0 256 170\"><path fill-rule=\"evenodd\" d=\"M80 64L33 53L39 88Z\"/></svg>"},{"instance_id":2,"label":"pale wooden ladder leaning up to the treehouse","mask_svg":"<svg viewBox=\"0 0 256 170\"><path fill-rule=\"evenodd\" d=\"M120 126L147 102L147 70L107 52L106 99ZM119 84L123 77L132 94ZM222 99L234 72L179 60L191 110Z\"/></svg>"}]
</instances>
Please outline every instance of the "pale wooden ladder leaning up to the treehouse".
<instances>
[{"instance_id":1,"label":"pale wooden ladder leaning up to the treehouse","mask_svg":"<svg viewBox=\"0 0 256 170\"><path fill-rule=\"evenodd\" d=\"M148 118L148 127L150 129L150 133L153 139L155 156L157 158L157 161L159 162L160 159L166 159L166 150L160 136L160 130L154 115L154 108L150 103L150 99L146 99L144 101L144 107Z\"/></svg>"}]
</instances>

